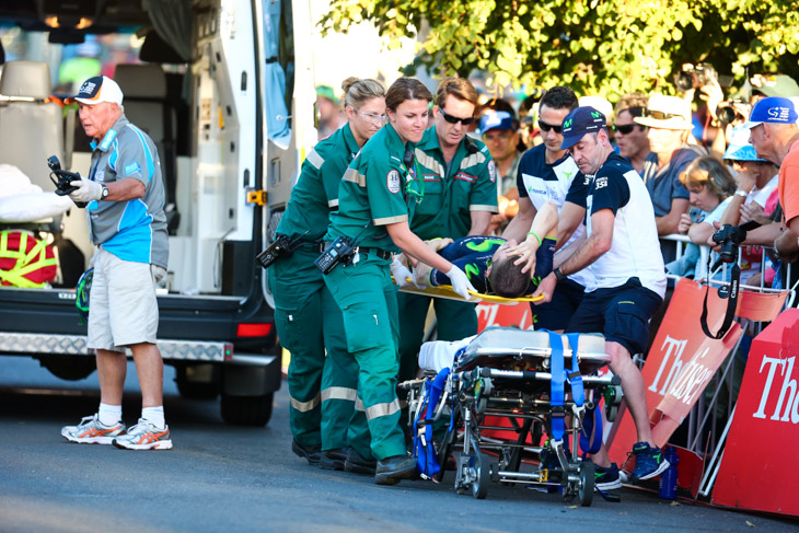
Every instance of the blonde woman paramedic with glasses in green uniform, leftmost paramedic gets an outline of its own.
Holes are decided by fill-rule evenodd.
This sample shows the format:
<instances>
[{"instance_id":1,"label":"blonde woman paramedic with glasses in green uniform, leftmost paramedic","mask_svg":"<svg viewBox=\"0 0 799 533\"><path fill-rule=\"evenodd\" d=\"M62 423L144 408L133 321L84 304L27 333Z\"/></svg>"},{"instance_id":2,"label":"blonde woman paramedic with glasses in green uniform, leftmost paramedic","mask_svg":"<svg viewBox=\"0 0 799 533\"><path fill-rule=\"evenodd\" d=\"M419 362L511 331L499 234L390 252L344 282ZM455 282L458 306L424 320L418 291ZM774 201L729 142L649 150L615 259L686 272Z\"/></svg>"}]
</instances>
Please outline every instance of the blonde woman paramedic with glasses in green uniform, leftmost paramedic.
<instances>
[{"instance_id":1,"label":"blonde woman paramedic with glasses in green uniform, leftmost paramedic","mask_svg":"<svg viewBox=\"0 0 799 533\"><path fill-rule=\"evenodd\" d=\"M321 253L329 212L338 208L344 172L385 124L385 89L380 82L349 78L341 89L348 121L305 158L277 229L302 244L269 268L278 336L291 352L291 449L327 470L344 468L358 369L347 354L341 312L313 262Z\"/></svg>"}]
</instances>

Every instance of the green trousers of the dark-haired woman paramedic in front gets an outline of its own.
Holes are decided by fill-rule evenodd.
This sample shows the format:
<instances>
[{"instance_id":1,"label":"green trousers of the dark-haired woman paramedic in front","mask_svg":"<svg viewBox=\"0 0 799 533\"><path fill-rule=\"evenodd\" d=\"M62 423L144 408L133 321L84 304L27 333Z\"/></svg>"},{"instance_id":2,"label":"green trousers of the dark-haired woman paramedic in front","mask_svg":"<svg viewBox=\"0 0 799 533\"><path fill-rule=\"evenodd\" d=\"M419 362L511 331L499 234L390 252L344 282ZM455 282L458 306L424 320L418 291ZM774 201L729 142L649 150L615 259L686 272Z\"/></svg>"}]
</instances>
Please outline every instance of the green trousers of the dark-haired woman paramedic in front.
<instances>
[{"instance_id":1,"label":"green trousers of the dark-haired woman paramedic in front","mask_svg":"<svg viewBox=\"0 0 799 533\"><path fill-rule=\"evenodd\" d=\"M391 280L391 259L361 252L358 263L337 265L325 283L344 314L347 348L358 364L356 413L350 421L352 448L378 460L405 455L396 397L397 308ZM359 405L363 412L359 410ZM371 453L360 447L360 437L371 434Z\"/></svg>"}]
</instances>

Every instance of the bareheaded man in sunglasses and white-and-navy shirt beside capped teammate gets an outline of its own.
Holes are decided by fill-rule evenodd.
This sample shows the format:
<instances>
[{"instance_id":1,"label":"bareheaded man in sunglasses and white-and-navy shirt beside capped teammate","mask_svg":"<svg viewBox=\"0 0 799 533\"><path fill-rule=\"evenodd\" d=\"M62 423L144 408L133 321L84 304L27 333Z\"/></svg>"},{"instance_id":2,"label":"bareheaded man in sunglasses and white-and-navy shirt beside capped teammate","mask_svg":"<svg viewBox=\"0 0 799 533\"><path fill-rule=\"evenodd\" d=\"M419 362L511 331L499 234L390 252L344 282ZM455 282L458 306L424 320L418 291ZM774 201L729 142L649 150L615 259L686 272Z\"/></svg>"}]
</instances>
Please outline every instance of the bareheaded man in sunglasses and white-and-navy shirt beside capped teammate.
<instances>
[{"instance_id":1,"label":"bareheaded man in sunglasses and white-and-navy shirt beside capped teammate","mask_svg":"<svg viewBox=\"0 0 799 533\"><path fill-rule=\"evenodd\" d=\"M556 265L561 253L570 248L584 233L582 227L584 177L567 151L560 148L563 120L577 106L577 95L566 86L554 86L541 99L539 128L544 142L524 152L519 163L517 176L519 212L502 232L502 237L509 241L521 243L526 239L534 239L528 236L528 230L539 210L547 200L553 200L560 210L558 244L565 235L571 235L555 256ZM533 308L535 328L563 331L580 304L584 287L590 279L591 275L582 271L558 283L551 302Z\"/></svg>"}]
</instances>

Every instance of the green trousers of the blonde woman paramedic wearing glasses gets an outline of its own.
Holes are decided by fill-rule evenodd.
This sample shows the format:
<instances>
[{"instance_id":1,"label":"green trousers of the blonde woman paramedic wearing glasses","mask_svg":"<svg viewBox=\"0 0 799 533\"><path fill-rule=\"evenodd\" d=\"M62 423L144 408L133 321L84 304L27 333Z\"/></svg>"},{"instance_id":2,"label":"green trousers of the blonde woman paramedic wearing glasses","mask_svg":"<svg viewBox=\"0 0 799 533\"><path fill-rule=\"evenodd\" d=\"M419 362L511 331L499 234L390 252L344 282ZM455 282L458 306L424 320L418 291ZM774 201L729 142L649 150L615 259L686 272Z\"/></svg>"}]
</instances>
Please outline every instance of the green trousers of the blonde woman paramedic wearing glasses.
<instances>
[{"instance_id":1,"label":"green trousers of the blonde woman paramedic wearing glasses","mask_svg":"<svg viewBox=\"0 0 799 533\"><path fill-rule=\"evenodd\" d=\"M334 450L349 445L358 368L347 354L341 312L313 263L319 255L303 245L279 258L269 270L269 289L280 344L291 354L291 433L302 445Z\"/></svg>"}]
</instances>

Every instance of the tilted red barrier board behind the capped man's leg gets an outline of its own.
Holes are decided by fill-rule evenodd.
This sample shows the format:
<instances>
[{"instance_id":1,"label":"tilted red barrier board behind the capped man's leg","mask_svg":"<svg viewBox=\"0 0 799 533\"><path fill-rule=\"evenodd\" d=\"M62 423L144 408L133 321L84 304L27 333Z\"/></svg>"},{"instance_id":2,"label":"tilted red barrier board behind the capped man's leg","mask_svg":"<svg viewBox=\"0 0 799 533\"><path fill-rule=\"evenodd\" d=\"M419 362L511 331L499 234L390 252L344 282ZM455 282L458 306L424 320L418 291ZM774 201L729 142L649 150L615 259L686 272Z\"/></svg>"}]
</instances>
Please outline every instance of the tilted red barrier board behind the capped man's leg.
<instances>
[{"instance_id":1,"label":"tilted red barrier board behind the capped man's leg","mask_svg":"<svg viewBox=\"0 0 799 533\"><path fill-rule=\"evenodd\" d=\"M703 333L699 317L704 298L704 287L688 279L680 280L641 369L652 436L659 447L669 441L688 415L741 336L738 323L721 340ZM715 332L723 322L727 301L711 289L707 305L708 326ZM627 410L614 425L609 447L611 459L622 465L636 441L635 425ZM627 470L632 467L633 464L627 465Z\"/></svg>"}]
</instances>

